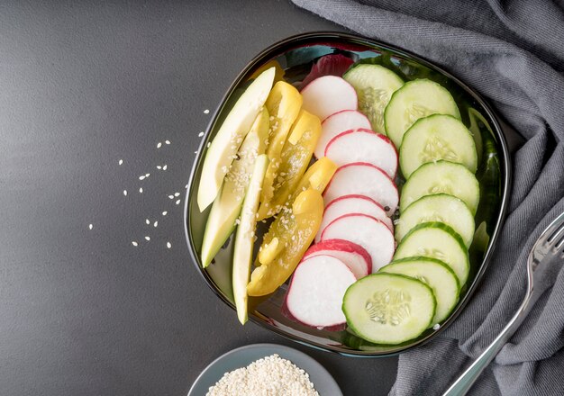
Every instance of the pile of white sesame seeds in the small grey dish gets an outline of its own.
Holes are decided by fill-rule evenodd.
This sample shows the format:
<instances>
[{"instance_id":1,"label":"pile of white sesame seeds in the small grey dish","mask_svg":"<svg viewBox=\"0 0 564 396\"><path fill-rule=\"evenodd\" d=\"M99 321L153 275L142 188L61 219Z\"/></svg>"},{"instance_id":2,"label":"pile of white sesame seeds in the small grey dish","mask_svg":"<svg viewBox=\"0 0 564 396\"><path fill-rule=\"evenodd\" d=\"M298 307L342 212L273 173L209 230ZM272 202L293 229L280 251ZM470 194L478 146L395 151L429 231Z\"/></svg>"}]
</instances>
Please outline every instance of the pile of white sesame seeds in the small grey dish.
<instances>
[{"instance_id":1,"label":"pile of white sesame seeds in the small grey dish","mask_svg":"<svg viewBox=\"0 0 564 396\"><path fill-rule=\"evenodd\" d=\"M277 354L225 373L206 396L319 396L309 374Z\"/></svg>"}]
</instances>

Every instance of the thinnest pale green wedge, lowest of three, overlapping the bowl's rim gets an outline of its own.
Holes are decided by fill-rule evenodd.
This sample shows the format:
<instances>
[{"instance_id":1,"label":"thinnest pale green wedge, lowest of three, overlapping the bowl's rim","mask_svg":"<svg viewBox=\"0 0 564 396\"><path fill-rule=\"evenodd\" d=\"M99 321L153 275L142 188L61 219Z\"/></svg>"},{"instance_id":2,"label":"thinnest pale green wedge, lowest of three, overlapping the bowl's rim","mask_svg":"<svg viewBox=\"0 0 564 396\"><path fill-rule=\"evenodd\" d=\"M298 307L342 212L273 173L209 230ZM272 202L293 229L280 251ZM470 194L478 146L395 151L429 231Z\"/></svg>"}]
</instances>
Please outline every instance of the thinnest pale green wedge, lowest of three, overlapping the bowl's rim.
<instances>
[{"instance_id":1,"label":"thinnest pale green wedge, lowest of three, overlapping the bowl's rim","mask_svg":"<svg viewBox=\"0 0 564 396\"><path fill-rule=\"evenodd\" d=\"M260 189L267 172L268 156L262 154L257 157L250 184L241 210L241 219L235 234L235 249L233 251L233 297L237 308L237 317L241 324L249 319L247 284L250 279L250 263L252 262L252 247L255 241L257 227L257 212L259 211Z\"/></svg>"}]
</instances>

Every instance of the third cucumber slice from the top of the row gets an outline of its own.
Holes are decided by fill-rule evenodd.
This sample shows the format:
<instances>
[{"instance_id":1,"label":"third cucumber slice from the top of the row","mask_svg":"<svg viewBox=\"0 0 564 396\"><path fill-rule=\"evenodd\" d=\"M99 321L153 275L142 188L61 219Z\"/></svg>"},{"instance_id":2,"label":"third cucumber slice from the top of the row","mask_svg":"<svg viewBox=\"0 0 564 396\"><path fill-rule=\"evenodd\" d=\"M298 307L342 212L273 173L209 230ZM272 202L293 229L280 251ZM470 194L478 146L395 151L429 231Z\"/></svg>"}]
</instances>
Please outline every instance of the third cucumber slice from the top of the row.
<instances>
[{"instance_id":1,"label":"third cucumber slice from the top of the row","mask_svg":"<svg viewBox=\"0 0 564 396\"><path fill-rule=\"evenodd\" d=\"M416 121L405 132L399 148L399 165L405 177L427 162L446 159L476 173L476 143L464 124L450 115L434 114Z\"/></svg>"}]
</instances>

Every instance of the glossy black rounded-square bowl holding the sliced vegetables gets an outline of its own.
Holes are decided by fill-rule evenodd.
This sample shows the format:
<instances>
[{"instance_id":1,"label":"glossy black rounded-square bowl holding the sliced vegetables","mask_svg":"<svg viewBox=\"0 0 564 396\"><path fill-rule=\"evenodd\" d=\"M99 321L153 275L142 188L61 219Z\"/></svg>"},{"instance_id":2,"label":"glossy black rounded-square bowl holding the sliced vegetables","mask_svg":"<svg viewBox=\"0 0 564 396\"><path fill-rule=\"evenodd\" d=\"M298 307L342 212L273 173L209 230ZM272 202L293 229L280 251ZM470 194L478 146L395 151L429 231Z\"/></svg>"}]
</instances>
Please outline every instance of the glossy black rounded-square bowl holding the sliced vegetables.
<instances>
[{"instance_id":1,"label":"glossy black rounded-square bowl holding the sliced vegetables","mask_svg":"<svg viewBox=\"0 0 564 396\"><path fill-rule=\"evenodd\" d=\"M328 54L341 54L355 62L381 64L394 70L405 81L429 78L446 87L454 97L459 106L462 121L475 135L478 149L477 177L480 184L480 203L475 219L481 236L476 238L469 249L468 282L460 292L457 306L450 313L449 318L442 322L439 329L427 329L420 337L400 345L372 344L358 338L347 329L341 331L313 329L288 319L282 310L287 284L282 285L277 292L268 296L250 298L250 320L301 344L341 355L392 356L428 342L456 320L460 311L464 309L472 294L475 293L480 278L484 275L492 257L507 206L507 194L511 180L510 159L505 136L496 120L496 115L478 93L441 67L434 66L403 49L357 35L338 32L300 34L279 41L263 50L249 62L229 87L205 132L205 138L202 139L186 192L186 242L197 272L202 275L205 283L212 288L217 297L234 310L231 282L233 238L226 242L211 266L203 269L200 261L200 248L209 208L204 212L199 211L196 192L207 144L214 139L223 119L231 110L232 104L249 84L253 73L260 67L268 62L276 61L285 70L287 82L298 85L309 73L314 62ZM403 180L398 179L396 182L401 188Z\"/></svg>"}]
</instances>

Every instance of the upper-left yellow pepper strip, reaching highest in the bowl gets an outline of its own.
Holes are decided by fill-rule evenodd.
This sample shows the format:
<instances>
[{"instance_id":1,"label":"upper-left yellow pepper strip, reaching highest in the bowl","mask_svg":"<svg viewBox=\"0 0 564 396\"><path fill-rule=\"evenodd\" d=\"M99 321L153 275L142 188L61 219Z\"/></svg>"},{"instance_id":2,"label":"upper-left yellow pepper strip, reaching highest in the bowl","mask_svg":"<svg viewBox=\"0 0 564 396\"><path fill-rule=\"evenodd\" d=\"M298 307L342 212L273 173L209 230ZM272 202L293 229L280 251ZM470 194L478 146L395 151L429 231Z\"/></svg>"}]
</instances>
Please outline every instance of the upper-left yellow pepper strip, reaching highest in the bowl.
<instances>
[{"instance_id":1,"label":"upper-left yellow pepper strip, reaching highest in the bowl","mask_svg":"<svg viewBox=\"0 0 564 396\"><path fill-rule=\"evenodd\" d=\"M274 182L277 178L280 155L288 132L296 121L302 107L302 95L297 89L284 81L278 81L268 94L265 103L270 114L270 131L268 133L268 169L262 184L261 204L268 205L274 196Z\"/></svg>"}]
</instances>

